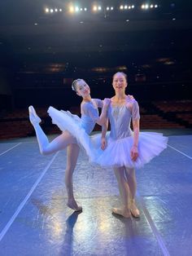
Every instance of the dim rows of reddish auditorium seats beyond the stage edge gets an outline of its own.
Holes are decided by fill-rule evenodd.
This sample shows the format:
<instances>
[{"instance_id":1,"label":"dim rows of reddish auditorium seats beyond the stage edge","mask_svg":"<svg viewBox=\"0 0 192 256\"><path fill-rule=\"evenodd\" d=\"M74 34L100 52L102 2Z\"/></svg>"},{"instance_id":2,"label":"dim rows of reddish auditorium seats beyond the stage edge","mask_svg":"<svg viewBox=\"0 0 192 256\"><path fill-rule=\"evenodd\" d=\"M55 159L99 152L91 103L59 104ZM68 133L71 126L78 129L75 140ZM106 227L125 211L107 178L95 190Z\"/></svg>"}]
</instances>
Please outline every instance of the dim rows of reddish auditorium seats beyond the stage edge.
<instances>
[{"instance_id":1,"label":"dim rows of reddish auditorium seats beyond the stage edge","mask_svg":"<svg viewBox=\"0 0 192 256\"><path fill-rule=\"evenodd\" d=\"M47 135L59 134L59 128L51 123L47 108L36 107L41 117L42 129ZM73 106L69 110L80 115L80 107ZM174 129L192 128L192 101L158 101L140 104L140 127L142 129ZM0 139L22 138L35 135L33 126L28 121L28 108L0 113ZM94 130L100 130L98 125Z\"/></svg>"}]
</instances>

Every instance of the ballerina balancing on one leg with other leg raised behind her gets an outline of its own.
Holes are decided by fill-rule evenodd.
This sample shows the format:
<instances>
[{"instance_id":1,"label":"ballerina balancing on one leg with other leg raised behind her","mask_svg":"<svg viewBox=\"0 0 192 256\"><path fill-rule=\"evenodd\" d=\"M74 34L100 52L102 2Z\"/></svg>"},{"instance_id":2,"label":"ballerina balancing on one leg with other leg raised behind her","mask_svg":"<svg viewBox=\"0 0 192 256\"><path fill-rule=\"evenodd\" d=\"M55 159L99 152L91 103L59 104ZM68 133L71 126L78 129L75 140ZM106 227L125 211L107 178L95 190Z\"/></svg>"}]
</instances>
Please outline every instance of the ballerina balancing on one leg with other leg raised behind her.
<instances>
[{"instance_id":1,"label":"ballerina balancing on one leg with other leg raised behind her","mask_svg":"<svg viewBox=\"0 0 192 256\"><path fill-rule=\"evenodd\" d=\"M81 118L69 112L59 111L50 107L48 113L53 123L63 130L63 133L51 142L49 142L44 131L41 129L39 125L41 118L37 116L33 106L30 106L28 111L29 119L36 131L41 154L48 155L67 148L67 166L65 170L65 184L68 192L67 205L72 210L80 211L82 207L77 205L73 194L72 174L76 167L80 145L85 148L89 156L94 154L90 148L89 134L94 130L96 123L103 126L103 130L106 129L105 112L107 111L107 106L103 105L101 99L91 99L90 88L83 79L75 80L72 83L72 90L75 90L76 94L82 97ZM98 116L98 108L103 108L100 117Z\"/></svg>"}]
</instances>

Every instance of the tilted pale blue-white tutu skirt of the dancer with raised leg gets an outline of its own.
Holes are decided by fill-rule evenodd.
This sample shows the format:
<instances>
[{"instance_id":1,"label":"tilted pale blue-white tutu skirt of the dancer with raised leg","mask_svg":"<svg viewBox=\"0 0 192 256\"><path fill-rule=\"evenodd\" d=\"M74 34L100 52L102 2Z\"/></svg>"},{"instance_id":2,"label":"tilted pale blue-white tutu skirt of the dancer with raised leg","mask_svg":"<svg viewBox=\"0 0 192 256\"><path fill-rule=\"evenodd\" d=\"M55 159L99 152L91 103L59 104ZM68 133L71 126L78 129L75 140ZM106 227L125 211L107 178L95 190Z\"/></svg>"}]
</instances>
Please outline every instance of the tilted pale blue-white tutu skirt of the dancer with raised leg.
<instances>
[{"instance_id":1,"label":"tilted pale blue-white tutu skirt of the dancer with raised leg","mask_svg":"<svg viewBox=\"0 0 192 256\"><path fill-rule=\"evenodd\" d=\"M85 149L89 161L92 161L96 152L89 135L85 132L85 129L81 127L81 118L73 115L69 111L59 111L53 107L50 107L47 112L52 118L53 124L57 125L62 131L68 130L71 135L76 138L76 143L78 143L80 147L82 146L81 148Z\"/></svg>"}]
</instances>

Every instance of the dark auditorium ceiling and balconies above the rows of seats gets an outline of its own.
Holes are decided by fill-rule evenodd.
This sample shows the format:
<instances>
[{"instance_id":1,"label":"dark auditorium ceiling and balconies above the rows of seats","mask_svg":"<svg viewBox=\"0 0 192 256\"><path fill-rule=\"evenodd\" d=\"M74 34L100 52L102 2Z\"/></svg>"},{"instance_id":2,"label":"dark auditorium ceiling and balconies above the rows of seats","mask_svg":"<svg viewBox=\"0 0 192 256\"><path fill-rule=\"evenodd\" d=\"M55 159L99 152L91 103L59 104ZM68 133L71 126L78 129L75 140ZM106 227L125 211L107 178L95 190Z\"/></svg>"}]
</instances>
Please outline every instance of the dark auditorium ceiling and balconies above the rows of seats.
<instances>
[{"instance_id":1,"label":"dark auditorium ceiling and balconies above the rows of seats","mask_svg":"<svg viewBox=\"0 0 192 256\"><path fill-rule=\"evenodd\" d=\"M145 11L143 2L100 1L105 10L93 13L94 2L81 0L88 11L69 14L68 1L1 1L0 107L76 106L78 77L92 97L110 97L117 71L139 102L191 99L191 1L151 1L159 7ZM121 3L135 7L120 11Z\"/></svg>"}]
</instances>

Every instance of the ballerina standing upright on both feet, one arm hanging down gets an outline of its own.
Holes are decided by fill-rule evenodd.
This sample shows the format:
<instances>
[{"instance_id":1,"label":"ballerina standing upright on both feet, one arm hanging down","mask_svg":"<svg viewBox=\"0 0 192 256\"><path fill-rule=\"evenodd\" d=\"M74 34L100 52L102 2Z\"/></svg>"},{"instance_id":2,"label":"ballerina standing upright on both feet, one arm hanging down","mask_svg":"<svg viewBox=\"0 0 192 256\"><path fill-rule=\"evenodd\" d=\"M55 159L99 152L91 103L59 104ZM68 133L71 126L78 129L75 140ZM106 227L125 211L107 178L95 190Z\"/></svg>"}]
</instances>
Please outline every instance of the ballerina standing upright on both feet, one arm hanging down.
<instances>
[{"instance_id":1,"label":"ballerina standing upright on both feet, one arm hanging down","mask_svg":"<svg viewBox=\"0 0 192 256\"><path fill-rule=\"evenodd\" d=\"M167 147L168 139L158 133L139 133L139 107L135 99L125 95L127 76L124 73L116 73L113 76L112 86L116 95L108 104L107 117L111 124L111 132L106 139L103 134L95 135L93 143L95 148L102 143L102 148L94 162L100 166L111 166L115 170L118 181L122 208L113 208L112 212L125 218L138 218L140 213L135 204L137 182L135 168L139 168L151 161L151 159ZM133 131L130 129L130 121L133 122ZM106 141L107 140L107 141Z\"/></svg>"}]
</instances>

